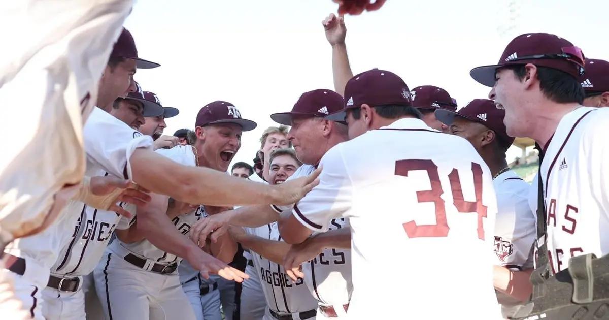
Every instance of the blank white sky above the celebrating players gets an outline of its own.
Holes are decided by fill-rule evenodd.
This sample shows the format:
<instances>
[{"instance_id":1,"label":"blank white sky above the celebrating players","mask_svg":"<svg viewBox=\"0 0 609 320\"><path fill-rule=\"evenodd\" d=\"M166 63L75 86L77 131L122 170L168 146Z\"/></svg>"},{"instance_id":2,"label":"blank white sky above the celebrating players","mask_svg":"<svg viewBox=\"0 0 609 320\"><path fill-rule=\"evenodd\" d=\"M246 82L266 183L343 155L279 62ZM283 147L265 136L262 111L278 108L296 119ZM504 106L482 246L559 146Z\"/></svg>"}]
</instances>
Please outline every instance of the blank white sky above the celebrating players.
<instances>
[{"instance_id":1,"label":"blank white sky above the celebrating players","mask_svg":"<svg viewBox=\"0 0 609 320\"><path fill-rule=\"evenodd\" d=\"M138 1L125 27L139 56L161 66L138 70L136 80L180 109L166 121L169 135L192 129L208 102L232 102L258 123L233 160L252 163L262 131L276 126L271 113L289 111L305 91L333 89L321 21L336 9L331 0ZM557 34L586 57L609 60L608 11L606 0L387 0L345 18L347 48L354 73L387 69L410 89L444 88L462 107L489 90L470 69L496 63L525 32ZM508 157L519 152L512 147Z\"/></svg>"}]
</instances>

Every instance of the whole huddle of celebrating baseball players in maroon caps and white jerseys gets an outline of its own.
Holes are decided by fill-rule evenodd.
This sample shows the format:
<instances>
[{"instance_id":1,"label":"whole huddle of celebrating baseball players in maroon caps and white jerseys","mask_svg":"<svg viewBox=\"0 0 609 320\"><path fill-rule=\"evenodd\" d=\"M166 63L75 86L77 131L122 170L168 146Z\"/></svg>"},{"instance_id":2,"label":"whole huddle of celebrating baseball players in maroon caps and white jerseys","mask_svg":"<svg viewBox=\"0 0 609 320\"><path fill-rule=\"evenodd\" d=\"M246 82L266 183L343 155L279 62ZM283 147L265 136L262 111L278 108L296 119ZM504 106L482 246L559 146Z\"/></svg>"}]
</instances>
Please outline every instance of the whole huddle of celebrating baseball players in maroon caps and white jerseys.
<instances>
[{"instance_id":1,"label":"whole huddle of celebrating baseball players in maroon caps and white jerseys","mask_svg":"<svg viewBox=\"0 0 609 320\"><path fill-rule=\"evenodd\" d=\"M213 101L163 135L180 111L133 79L160 64L122 27L128 1L102 2L74 2L49 47L0 68L2 104L48 88L33 131L55 132L0 162L4 318L609 318L609 62L519 35L471 69L488 97L457 104L354 75L331 14L334 90L303 88L229 172L258 124ZM540 150L532 184L506 160L515 137Z\"/></svg>"}]
</instances>

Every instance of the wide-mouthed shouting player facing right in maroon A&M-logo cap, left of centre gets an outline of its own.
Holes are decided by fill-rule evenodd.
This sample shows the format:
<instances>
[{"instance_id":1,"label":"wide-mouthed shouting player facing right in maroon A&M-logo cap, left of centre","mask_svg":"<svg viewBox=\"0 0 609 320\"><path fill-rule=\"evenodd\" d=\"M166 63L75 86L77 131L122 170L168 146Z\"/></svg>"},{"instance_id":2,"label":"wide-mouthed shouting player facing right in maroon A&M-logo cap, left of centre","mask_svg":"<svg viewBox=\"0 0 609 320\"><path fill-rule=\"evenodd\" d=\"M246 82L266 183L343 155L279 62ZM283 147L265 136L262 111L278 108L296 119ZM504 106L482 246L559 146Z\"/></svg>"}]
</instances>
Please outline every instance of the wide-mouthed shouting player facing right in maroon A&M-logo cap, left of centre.
<instances>
[{"instance_id":1,"label":"wide-mouthed shouting player facing right in maroon A&M-logo cap, left of centre","mask_svg":"<svg viewBox=\"0 0 609 320\"><path fill-rule=\"evenodd\" d=\"M159 149L157 152L186 165L200 164L225 172L234 154L241 147L242 130L248 131L255 127L256 123L253 121L241 118L239 110L233 104L215 101L201 108L197 115L198 140L194 146ZM167 218L167 197L156 198L153 196L152 202L161 204L158 212L164 217L140 217L135 222L135 230L132 228L127 232L118 232L119 241L110 244L107 259L102 260L94 272L97 294L102 297L107 319L167 319L168 315L178 319L194 319L193 311L202 310L202 307L193 310L180 285L180 277L177 274L181 261L177 254L180 252L177 252L177 249L163 250L148 240L141 240L138 235L133 235L133 232L149 234L147 230L154 228L152 225L161 223L160 220L164 218L164 224L175 225L174 230L177 229L181 233L183 242L191 243L185 235L188 235L194 221L204 214L202 207ZM138 208L138 211L142 209ZM236 252L236 244L232 248L234 250L230 248L222 246L219 252L214 252L212 248L212 252L222 255L222 260L231 261ZM192 260L189 255L182 257L191 261L191 265L197 266L196 260ZM195 277L199 274L199 268L192 268L192 271ZM198 283L196 284L198 288ZM197 296L200 298L198 290ZM202 319L202 315L198 319Z\"/></svg>"}]
</instances>

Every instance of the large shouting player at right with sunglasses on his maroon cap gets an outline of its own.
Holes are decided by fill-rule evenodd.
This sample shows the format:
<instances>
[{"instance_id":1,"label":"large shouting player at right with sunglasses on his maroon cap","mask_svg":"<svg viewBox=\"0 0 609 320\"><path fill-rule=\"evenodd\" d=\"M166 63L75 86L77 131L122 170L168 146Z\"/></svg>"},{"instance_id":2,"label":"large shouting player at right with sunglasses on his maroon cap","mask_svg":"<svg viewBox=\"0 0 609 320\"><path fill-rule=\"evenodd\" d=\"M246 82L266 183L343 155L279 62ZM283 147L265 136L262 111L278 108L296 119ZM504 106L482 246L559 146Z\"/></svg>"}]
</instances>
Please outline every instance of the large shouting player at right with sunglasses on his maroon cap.
<instances>
[{"instance_id":1,"label":"large shouting player at right with sunglasses on his maroon cap","mask_svg":"<svg viewBox=\"0 0 609 320\"><path fill-rule=\"evenodd\" d=\"M507 133L530 137L542 148L532 186L537 194L530 199L537 211L539 237L537 269L531 279L537 283L533 283L533 302L549 310L534 309L530 316L572 315L582 307L575 301L590 304L588 319L598 308L594 300L604 304L606 294L592 297L581 286L568 285L562 291L548 287L568 283L564 277L561 281L551 277L567 268L562 272L566 279L571 278L570 271L582 268L604 274L588 265L596 263L594 259L585 260L592 258L590 254L601 257L609 252L609 196L604 191L609 143L603 138L609 110L581 105L585 93L578 78L584 74L583 53L557 35L523 34L506 46L499 63L474 68L470 74L492 87L489 98L505 109ZM590 276L582 280L586 278L597 282ZM546 294L540 286L546 286Z\"/></svg>"}]
</instances>

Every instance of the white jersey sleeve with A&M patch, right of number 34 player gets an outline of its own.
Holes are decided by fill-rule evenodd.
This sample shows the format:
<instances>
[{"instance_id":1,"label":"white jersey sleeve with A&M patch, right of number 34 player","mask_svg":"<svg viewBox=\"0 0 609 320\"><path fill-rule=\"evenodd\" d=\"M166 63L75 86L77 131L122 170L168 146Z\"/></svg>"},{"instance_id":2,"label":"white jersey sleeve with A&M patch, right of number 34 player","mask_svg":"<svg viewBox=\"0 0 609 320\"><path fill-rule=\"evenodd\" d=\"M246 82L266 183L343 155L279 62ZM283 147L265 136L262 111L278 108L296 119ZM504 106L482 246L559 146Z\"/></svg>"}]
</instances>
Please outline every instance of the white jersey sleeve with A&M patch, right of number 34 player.
<instances>
[{"instance_id":1,"label":"white jersey sleeve with A&M patch, right of number 34 player","mask_svg":"<svg viewBox=\"0 0 609 320\"><path fill-rule=\"evenodd\" d=\"M503 182L510 185L526 182ZM512 189L514 190L514 189ZM494 236L494 264L506 268L522 270L530 268L527 265L537 230L535 216L530 211L527 199L528 188L523 194L518 192L497 191L497 219Z\"/></svg>"}]
</instances>

